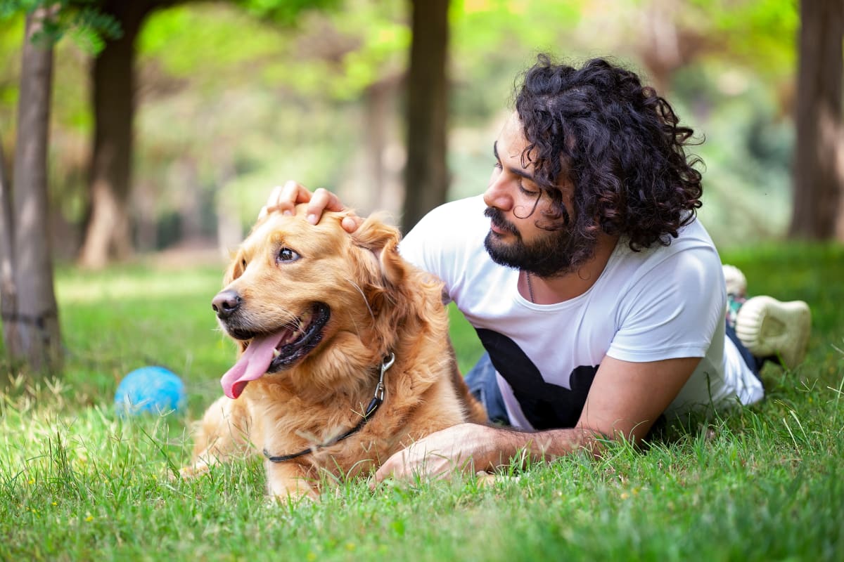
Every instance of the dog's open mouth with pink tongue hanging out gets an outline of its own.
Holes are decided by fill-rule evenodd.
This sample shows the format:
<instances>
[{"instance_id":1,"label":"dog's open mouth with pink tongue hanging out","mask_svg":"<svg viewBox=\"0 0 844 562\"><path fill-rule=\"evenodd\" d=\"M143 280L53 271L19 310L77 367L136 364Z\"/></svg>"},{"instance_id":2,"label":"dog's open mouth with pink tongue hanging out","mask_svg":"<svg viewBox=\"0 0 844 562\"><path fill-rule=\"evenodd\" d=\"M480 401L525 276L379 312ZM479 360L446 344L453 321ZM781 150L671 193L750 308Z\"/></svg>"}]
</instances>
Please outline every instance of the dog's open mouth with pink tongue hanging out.
<instances>
[{"instance_id":1,"label":"dog's open mouth with pink tongue hanging out","mask_svg":"<svg viewBox=\"0 0 844 562\"><path fill-rule=\"evenodd\" d=\"M241 358L220 379L225 395L236 399L249 381L295 365L322 341L322 328L330 316L327 304L317 302L295 323L273 334L253 337Z\"/></svg>"}]
</instances>

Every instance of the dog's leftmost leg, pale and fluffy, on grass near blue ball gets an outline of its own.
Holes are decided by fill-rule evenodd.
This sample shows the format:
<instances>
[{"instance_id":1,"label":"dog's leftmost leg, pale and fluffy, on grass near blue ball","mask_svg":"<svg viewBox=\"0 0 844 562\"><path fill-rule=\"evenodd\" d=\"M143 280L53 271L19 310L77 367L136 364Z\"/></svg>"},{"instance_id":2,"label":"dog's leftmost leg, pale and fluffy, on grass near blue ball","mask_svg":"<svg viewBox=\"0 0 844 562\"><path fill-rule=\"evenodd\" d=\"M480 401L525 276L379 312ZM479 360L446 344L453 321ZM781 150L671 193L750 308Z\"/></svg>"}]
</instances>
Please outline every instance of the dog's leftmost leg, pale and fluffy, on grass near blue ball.
<instances>
[{"instance_id":1,"label":"dog's leftmost leg, pale and fluffy, on grass near blue ball","mask_svg":"<svg viewBox=\"0 0 844 562\"><path fill-rule=\"evenodd\" d=\"M191 478L208 472L214 464L249 454L250 426L242 402L225 396L218 399L206 410L197 432L192 461L181 468L179 474L182 478Z\"/></svg>"}]
</instances>

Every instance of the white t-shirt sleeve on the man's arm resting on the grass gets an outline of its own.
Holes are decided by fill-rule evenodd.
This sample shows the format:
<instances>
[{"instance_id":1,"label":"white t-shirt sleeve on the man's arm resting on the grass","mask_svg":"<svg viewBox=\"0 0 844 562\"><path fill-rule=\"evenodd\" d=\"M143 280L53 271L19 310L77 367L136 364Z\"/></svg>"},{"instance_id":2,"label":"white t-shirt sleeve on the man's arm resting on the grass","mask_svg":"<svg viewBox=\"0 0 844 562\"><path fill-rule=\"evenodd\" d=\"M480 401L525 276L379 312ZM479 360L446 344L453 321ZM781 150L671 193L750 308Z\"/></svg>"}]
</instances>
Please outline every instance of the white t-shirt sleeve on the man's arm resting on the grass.
<instances>
[{"instance_id":1,"label":"white t-shirt sleeve on the man's arm resting on the grass","mask_svg":"<svg viewBox=\"0 0 844 562\"><path fill-rule=\"evenodd\" d=\"M632 362L706 356L726 310L721 260L707 247L679 250L620 298L608 356Z\"/></svg>"}]
</instances>

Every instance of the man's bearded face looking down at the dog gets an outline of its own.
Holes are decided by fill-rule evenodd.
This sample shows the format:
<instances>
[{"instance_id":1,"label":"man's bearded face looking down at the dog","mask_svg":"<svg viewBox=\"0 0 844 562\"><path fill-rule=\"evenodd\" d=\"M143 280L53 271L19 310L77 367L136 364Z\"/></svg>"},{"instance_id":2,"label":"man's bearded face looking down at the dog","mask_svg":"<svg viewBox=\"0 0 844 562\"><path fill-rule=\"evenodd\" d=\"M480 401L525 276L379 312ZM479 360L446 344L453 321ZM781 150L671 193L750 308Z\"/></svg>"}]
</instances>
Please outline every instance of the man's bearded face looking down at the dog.
<instances>
[{"instance_id":1,"label":"man's bearded face looking down at the dog","mask_svg":"<svg viewBox=\"0 0 844 562\"><path fill-rule=\"evenodd\" d=\"M537 226L548 222L549 195L533 181L533 163L522 165L527 140L514 113L495 141L495 169L484 193L484 215L490 217L490 233L484 246L495 263L541 276L559 276L581 264L571 260L572 249L593 244L573 233L571 227L547 230ZM571 213L571 190L563 191L563 202Z\"/></svg>"}]
</instances>

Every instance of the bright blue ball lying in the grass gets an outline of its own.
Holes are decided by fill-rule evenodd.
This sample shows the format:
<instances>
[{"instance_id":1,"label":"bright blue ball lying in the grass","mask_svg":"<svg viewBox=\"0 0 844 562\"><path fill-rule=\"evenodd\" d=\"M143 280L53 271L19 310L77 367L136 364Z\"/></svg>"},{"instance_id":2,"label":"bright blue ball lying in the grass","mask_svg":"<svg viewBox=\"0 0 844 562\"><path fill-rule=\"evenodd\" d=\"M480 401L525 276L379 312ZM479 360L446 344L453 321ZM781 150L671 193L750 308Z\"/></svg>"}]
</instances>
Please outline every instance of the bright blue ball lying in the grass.
<instances>
[{"instance_id":1,"label":"bright blue ball lying in the grass","mask_svg":"<svg viewBox=\"0 0 844 562\"><path fill-rule=\"evenodd\" d=\"M117 385L114 404L118 414L168 414L185 405L185 384L164 367L140 367Z\"/></svg>"}]
</instances>

